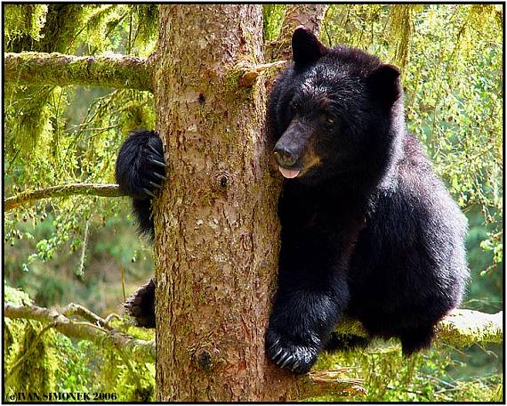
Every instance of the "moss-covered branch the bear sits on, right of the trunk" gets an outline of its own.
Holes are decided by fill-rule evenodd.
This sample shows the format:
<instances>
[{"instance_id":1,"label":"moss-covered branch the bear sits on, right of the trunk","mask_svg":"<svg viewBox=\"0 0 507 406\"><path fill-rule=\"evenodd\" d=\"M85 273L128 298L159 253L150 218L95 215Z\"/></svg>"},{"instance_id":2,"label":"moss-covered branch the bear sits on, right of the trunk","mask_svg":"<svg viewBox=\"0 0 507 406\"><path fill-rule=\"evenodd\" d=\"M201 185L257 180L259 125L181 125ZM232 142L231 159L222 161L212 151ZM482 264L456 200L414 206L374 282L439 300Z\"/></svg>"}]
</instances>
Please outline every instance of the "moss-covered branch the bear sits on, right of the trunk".
<instances>
[{"instance_id":1,"label":"moss-covered branch the bear sits on, right of the trunk","mask_svg":"<svg viewBox=\"0 0 507 406\"><path fill-rule=\"evenodd\" d=\"M343 335L366 337L366 330L358 321L343 321L335 329ZM439 322L436 342L468 346L474 343L501 343L503 341L503 312L480 313L475 310L456 309Z\"/></svg>"}]
</instances>

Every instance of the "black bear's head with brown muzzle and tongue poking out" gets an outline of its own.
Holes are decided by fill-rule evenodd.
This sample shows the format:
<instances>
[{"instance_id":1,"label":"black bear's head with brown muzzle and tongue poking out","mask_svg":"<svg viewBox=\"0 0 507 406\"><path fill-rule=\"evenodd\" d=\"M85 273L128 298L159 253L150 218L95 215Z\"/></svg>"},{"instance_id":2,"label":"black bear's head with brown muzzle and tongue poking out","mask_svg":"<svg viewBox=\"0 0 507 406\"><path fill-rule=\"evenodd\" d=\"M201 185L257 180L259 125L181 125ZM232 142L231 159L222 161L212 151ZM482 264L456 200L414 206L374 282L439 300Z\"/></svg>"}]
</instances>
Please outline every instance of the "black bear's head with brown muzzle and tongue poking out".
<instances>
[{"instance_id":1,"label":"black bear's head with brown muzzle and tongue poking out","mask_svg":"<svg viewBox=\"0 0 507 406\"><path fill-rule=\"evenodd\" d=\"M292 47L270 108L282 175L318 183L382 172L404 127L398 68L355 48L326 48L302 26Z\"/></svg>"}]
</instances>

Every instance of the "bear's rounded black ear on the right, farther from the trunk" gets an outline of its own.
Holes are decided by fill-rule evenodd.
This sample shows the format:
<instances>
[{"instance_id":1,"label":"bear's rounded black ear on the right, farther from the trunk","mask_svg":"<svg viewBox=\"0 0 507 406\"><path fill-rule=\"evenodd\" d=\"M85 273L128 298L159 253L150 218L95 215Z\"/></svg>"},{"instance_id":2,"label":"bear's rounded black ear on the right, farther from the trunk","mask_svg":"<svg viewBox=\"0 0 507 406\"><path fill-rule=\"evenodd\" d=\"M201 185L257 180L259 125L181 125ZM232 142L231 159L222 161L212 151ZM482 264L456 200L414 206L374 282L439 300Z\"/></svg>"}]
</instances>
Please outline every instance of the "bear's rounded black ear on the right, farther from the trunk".
<instances>
[{"instance_id":1,"label":"bear's rounded black ear on the right, farther from the trunk","mask_svg":"<svg viewBox=\"0 0 507 406\"><path fill-rule=\"evenodd\" d=\"M366 77L366 83L374 100L391 107L401 96L399 69L394 65L382 64Z\"/></svg>"}]
</instances>

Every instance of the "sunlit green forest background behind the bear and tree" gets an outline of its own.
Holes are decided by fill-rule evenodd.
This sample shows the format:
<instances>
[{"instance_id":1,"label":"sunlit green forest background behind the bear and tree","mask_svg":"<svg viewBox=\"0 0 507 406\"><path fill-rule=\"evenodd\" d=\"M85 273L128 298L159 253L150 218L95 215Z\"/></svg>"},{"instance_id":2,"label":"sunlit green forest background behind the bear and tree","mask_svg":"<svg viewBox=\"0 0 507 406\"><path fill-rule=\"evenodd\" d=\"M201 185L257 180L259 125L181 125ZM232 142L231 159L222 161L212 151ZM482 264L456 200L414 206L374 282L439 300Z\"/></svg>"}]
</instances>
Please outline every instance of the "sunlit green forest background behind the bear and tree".
<instances>
[{"instance_id":1,"label":"sunlit green forest background behind the bear and tree","mask_svg":"<svg viewBox=\"0 0 507 406\"><path fill-rule=\"evenodd\" d=\"M264 5L265 41L277 36L285 12L285 5ZM148 56L157 23L156 4L4 5L4 51ZM471 281L462 307L500 311L503 6L334 4L320 37L326 45L358 46L402 69L407 126L469 220ZM153 95L129 89L9 82L4 113L7 198L65 183L114 183L125 135L155 127ZM38 306L74 302L102 317L121 314L125 295L152 271L151 248L135 235L126 198L41 199L4 214L5 301L27 303L29 296ZM110 322L133 337L153 339L152 331L133 328L123 316ZM129 360L38 321L4 319L4 327L8 392L100 391L116 393L118 401L154 400L152 360ZM365 379L367 394L358 401L502 397L501 344L437 344L406 362L388 343L319 361L320 367L334 365Z\"/></svg>"}]
</instances>

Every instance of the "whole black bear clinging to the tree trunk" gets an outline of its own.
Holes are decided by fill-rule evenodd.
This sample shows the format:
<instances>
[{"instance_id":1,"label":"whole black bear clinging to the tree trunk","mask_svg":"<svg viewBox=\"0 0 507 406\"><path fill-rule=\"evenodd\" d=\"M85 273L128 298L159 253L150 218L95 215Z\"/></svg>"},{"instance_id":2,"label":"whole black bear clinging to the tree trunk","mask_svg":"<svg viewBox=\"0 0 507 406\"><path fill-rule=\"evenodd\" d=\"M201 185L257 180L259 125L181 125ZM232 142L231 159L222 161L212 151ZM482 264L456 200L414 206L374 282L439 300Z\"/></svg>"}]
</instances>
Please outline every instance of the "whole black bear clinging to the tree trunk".
<instances>
[{"instance_id":1,"label":"whole black bear clinging to the tree trunk","mask_svg":"<svg viewBox=\"0 0 507 406\"><path fill-rule=\"evenodd\" d=\"M420 142L406 132L399 70L358 49L293 36L292 63L270 96L267 127L279 171L278 291L266 352L303 373L319 351L360 340L334 336L344 314L371 337L399 337L409 355L431 344L468 277L466 221ZM133 196L141 231L164 180L154 133L131 136L117 182ZM154 285L127 309L152 326Z\"/></svg>"}]
</instances>

